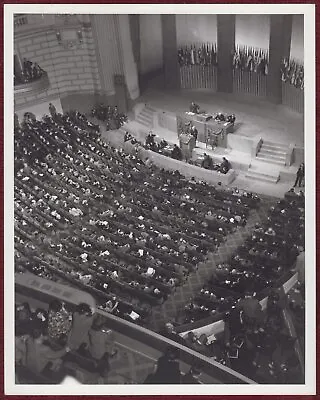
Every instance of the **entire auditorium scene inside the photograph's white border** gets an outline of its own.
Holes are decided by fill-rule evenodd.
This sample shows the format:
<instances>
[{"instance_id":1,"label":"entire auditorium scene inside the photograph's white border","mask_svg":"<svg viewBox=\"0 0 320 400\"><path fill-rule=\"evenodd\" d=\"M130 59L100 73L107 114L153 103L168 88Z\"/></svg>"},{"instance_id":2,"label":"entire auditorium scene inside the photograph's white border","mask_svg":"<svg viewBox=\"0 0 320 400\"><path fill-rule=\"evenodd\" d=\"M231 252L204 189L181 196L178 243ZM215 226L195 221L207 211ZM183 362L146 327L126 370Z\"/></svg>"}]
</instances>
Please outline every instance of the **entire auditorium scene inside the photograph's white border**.
<instances>
[{"instance_id":1,"label":"entire auditorium scene inside the photograph's white border","mask_svg":"<svg viewBox=\"0 0 320 400\"><path fill-rule=\"evenodd\" d=\"M304 384L304 15L13 26L15 384Z\"/></svg>"}]
</instances>

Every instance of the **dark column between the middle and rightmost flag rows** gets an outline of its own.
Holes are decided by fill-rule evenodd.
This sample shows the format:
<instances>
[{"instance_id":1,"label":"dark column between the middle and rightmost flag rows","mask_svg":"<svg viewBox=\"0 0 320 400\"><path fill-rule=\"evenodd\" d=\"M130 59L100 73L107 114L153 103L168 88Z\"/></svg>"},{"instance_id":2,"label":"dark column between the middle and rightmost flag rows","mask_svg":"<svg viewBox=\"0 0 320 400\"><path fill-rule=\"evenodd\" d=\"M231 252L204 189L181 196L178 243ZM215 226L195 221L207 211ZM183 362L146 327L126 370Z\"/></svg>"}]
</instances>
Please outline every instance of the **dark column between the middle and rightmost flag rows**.
<instances>
[{"instance_id":1,"label":"dark column between the middle and rightmost flag rows","mask_svg":"<svg viewBox=\"0 0 320 400\"><path fill-rule=\"evenodd\" d=\"M275 104L282 102L281 62L290 56L292 15L270 16L269 68L267 99Z\"/></svg>"}]
</instances>

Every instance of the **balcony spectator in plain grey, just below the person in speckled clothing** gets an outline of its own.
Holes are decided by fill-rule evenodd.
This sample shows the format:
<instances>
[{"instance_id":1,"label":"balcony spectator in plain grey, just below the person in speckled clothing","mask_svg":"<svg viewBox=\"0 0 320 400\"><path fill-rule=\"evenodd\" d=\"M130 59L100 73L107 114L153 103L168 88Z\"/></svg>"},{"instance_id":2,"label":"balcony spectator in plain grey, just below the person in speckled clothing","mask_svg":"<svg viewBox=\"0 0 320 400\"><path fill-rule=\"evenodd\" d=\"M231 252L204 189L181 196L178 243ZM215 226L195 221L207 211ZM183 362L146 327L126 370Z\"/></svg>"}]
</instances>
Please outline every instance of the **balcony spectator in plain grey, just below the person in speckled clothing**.
<instances>
[{"instance_id":1,"label":"balcony spectator in plain grey, just below the person in speckled clothing","mask_svg":"<svg viewBox=\"0 0 320 400\"><path fill-rule=\"evenodd\" d=\"M59 375L59 372L62 372L61 357L70 349L66 347L61 350L53 350L44 343L44 340L44 336L37 329L31 333L26 342L26 367L37 374Z\"/></svg>"}]
</instances>

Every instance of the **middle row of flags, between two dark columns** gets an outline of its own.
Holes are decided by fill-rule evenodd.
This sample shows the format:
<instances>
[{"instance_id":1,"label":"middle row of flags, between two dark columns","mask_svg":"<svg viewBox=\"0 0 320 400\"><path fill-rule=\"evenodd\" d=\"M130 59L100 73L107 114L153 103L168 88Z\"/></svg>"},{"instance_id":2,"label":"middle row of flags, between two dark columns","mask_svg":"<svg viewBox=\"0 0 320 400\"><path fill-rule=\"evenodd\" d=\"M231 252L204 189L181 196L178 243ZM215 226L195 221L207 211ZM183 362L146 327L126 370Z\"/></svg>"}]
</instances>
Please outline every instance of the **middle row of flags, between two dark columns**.
<instances>
[{"instance_id":1,"label":"middle row of flags, between two dark columns","mask_svg":"<svg viewBox=\"0 0 320 400\"><path fill-rule=\"evenodd\" d=\"M268 75L268 51L248 46L236 46L233 53L233 69Z\"/></svg>"}]
</instances>

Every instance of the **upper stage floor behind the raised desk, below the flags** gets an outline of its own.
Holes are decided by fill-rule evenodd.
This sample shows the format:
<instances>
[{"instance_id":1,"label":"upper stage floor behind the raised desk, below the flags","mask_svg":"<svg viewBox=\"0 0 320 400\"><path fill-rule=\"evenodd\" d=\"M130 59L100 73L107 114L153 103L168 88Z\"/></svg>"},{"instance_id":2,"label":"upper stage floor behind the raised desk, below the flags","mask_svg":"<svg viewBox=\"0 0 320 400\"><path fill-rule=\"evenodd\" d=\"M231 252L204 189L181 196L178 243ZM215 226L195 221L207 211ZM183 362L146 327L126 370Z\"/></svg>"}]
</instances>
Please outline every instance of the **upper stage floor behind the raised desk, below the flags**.
<instances>
[{"instance_id":1,"label":"upper stage floor behind the raised desk, below the flags","mask_svg":"<svg viewBox=\"0 0 320 400\"><path fill-rule=\"evenodd\" d=\"M209 90L146 91L137 103L146 103L167 113L183 113L195 101L209 114L223 112L237 117L235 133L245 137L267 137L268 140L304 147L304 118L282 105L257 98Z\"/></svg>"}]
</instances>

